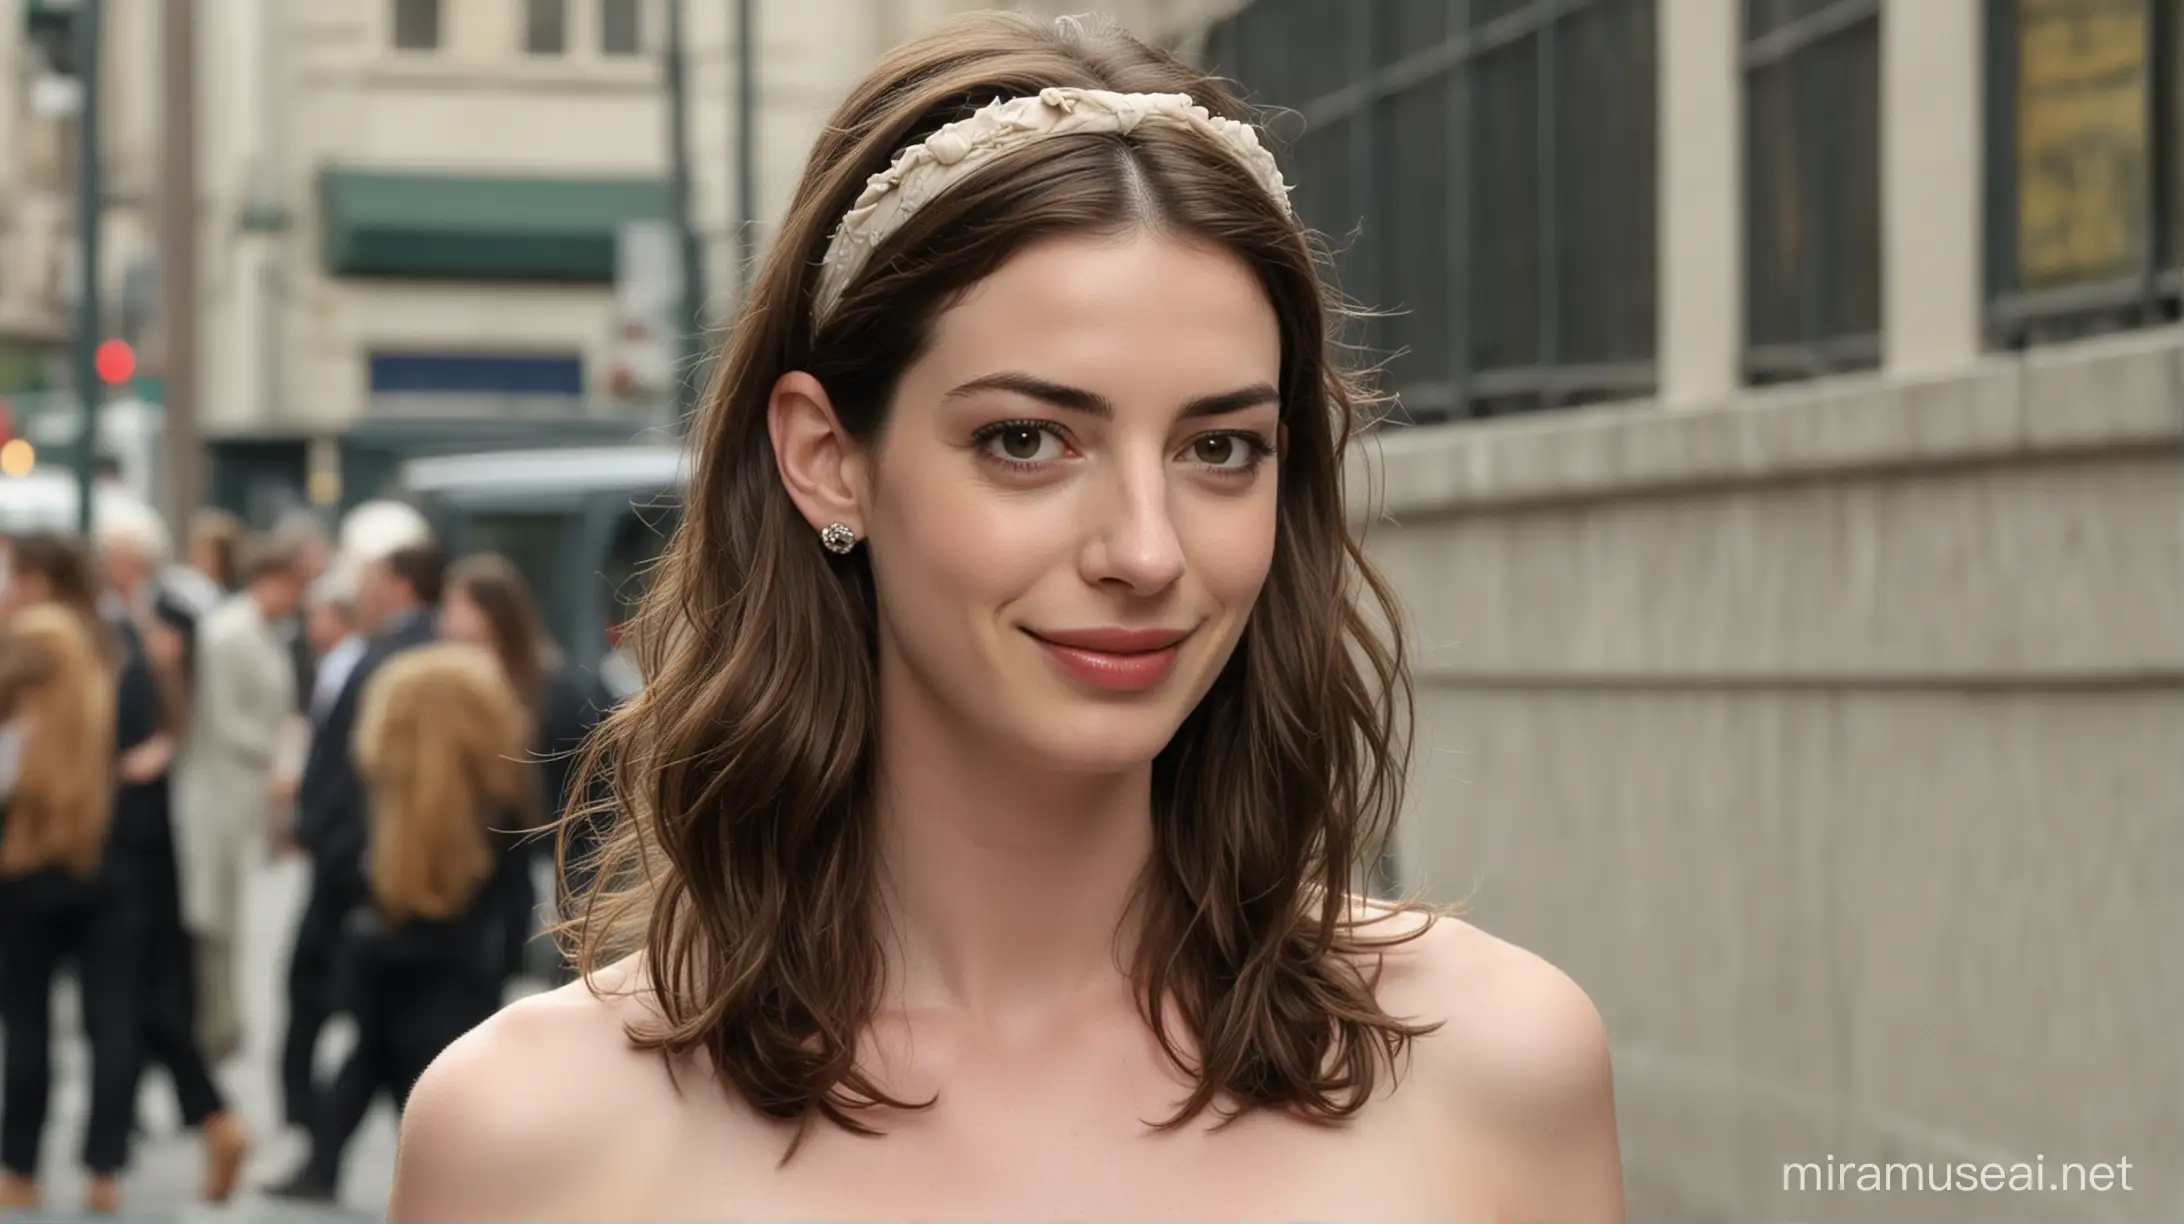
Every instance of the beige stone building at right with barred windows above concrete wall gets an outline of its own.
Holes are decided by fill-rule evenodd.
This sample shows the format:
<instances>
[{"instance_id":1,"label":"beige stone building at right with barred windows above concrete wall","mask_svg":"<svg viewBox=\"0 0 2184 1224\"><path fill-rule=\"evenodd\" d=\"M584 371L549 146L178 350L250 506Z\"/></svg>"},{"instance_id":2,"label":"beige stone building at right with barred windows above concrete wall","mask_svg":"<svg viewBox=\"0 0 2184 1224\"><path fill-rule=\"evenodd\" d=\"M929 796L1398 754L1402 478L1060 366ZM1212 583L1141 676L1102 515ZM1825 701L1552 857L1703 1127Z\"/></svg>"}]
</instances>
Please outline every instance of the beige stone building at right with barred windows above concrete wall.
<instances>
[{"instance_id":1,"label":"beige stone building at right with barred windows above concrete wall","mask_svg":"<svg viewBox=\"0 0 2184 1224\"><path fill-rule=\"evenodd\" d=\"M2173 17L1203 37L1420 422L1356 470L1420 684L1398 876L1592 992L1634 1220L2184 1209Z\"/></svg>"}]
</instances>

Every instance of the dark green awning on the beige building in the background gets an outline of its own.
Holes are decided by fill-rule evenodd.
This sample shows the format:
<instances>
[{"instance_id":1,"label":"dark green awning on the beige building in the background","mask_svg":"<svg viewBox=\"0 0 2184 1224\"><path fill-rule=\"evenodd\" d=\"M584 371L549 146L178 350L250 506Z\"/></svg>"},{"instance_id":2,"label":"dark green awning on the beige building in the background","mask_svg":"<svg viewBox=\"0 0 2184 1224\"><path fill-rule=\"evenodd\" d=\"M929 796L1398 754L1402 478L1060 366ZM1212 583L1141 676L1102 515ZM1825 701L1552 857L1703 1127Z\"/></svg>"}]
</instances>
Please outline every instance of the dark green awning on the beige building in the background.
<instances>
[{"instance_id":1,"label":"dark green awning on the beige building in the background","mask_svg":"<svg viewBox=\"0 0 2184 1224\"><path fill-rule=\"evenodd\" d=\"M660 179L319 173L332 275L614 280L625 221L666 216Z\"/></svg>"}]
</instances>

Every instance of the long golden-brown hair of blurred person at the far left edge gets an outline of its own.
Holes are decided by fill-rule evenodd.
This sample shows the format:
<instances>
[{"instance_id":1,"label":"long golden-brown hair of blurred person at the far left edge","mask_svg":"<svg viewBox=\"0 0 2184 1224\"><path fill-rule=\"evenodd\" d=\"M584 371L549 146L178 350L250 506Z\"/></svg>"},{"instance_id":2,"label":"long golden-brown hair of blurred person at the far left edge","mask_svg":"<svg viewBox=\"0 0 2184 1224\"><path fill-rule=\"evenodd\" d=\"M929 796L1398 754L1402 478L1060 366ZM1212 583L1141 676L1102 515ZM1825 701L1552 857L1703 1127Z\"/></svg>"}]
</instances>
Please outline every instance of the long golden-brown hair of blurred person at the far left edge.
<instances>
[{"instance_id":1,"label":"long golden-brown hair of blurred person at the far left edge","mask_svg":"<svg viewBox=\"0 0 2184 1224\"><path fill-rule=\"evenodd\" d=\"M114 817L114 673L76 608L44 601L7 619L0 708L24 732L0 876L94 874Z\"/></svg>"}]
</instances>

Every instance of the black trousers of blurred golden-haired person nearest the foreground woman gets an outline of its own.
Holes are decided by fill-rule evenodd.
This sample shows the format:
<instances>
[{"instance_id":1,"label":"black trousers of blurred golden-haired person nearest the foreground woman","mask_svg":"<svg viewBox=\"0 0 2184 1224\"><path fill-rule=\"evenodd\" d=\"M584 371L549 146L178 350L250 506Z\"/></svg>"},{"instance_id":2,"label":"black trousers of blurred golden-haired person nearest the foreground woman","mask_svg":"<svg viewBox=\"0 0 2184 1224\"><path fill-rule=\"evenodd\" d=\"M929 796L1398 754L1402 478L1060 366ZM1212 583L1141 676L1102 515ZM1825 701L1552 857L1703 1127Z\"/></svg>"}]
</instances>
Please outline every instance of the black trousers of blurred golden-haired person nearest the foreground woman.
<instances>
[{"instance_id":1,"label":"black trousers of blurred golden-haired person nearest the foreground woman","mask_svg":"<svg viewBox=\"0 0 2184 1224\"><path fill-rule=\"evenodd\" d=\"M306 1178L328 1187L339 1182L341 1156L371 1113L371 1099L384 1091L395 1110L408 1106L424 1069L500 1008L500 981L476 964L391 962L367 940L352 973L356 1049L312 1121L304 1165Z\"/></svg>"}]
</instances>

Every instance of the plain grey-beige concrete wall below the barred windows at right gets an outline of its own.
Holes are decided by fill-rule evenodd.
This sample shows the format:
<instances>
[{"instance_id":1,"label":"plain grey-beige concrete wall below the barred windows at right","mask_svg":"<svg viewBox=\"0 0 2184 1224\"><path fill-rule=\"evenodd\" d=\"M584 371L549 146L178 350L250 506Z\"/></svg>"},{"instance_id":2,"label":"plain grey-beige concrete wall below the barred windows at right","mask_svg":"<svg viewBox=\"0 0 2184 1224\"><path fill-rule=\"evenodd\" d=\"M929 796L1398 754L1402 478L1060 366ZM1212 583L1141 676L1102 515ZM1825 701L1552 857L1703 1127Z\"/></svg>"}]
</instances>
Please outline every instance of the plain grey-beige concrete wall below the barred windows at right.
<instances>
[{"instance_id":1,"label":"plain grey-beige concrete wall below the barred windows at right","mask_svg":"<svg viewBox=\"0 0 2184 1224\"><path fill-rule=\"evenodd\" d=\"M1372 448L1404 881L1592 992L1634 1220L2184 1213L2180 404L2156 332ZM1782 1182L2035 1156L2134 1191Z\"/></svg>"}]
</instances>

